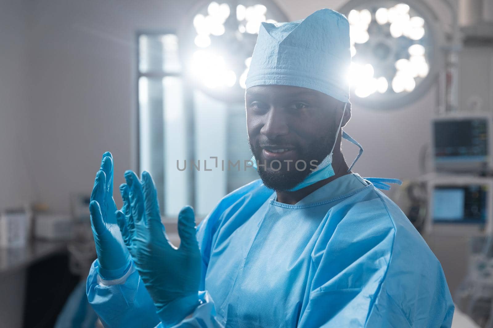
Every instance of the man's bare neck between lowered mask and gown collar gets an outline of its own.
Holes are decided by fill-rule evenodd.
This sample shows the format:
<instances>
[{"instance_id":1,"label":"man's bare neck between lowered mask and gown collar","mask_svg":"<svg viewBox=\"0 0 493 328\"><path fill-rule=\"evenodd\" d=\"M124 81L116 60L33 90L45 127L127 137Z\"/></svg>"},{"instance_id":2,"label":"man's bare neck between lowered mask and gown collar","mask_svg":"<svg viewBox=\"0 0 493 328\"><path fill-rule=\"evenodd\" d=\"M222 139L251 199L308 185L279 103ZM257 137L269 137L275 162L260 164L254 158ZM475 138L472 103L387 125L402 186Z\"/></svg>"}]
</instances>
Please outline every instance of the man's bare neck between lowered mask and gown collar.
<instances>
[{"instance_id":1,"label":"man's bare neck between lowered mask and gown collar","mask_svg":"<svg viewBox=\"0 0 493 328\"><path fill-rule=\"evenodd\" d=\"M284 204L289 204L289 205L294 205L301 201L303 198L306 196L310 195L312 192L320 188L321 186L326 185L327 183L334 181L337 178L340 178L342 176L345 176L351 172L348 172L349 167L348 164L346 163L346 160L344 159L344 155L342 151L334 151L333 154L333 161L332 161L332 167L334 169L335 175L333 177L327 178L320 180L312 185L309 185L308 187L305 187L300 190L296 191L277 191L277 201L280 203Z\"/></svg>"}]
</instances>

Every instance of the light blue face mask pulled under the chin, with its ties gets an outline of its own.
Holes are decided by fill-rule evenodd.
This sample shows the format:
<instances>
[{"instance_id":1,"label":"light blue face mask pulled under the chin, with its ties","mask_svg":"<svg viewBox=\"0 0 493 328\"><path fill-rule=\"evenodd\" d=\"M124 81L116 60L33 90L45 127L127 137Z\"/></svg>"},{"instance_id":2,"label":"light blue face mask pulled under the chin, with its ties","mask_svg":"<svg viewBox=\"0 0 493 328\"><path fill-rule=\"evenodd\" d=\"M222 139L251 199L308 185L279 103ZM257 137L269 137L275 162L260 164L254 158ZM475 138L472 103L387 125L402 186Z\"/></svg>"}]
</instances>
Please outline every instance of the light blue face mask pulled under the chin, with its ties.
<instances>
[{"instance_id":1,"label":"light blue face mask pulled under the chin, with its ties","mask_svg":"<svg viewBox=\"0 0 493 328\"><path fill-rule=\"evenodd\" d=\"M342 120L344 119L344 114L346 113L346 107L348 103L344 105L344 111L342 113L341 121L339 122L339 126L336 131L336 137L334 141L334 145L332 145L332 149L330 150L330 153L320 162L320 164L317 166L317 169L315 169L312 173L308 175L303 181L301 181L299 184L294 186L293 188L289 189L288 191L296 191L303 189L305 187L308 187L309 185L312 185L318 181L330 178L335 176L334 173L334 168L332 167L332 155L334 153L334 148L337 142L337 136L339 135L339 130L341 129L342 125ZM351 167L349 168L348 172L351 171L352 167L356 163L356 161L359 159L361 154L363 153L363 148L361 147L360 144L356 140L354 140L349 134L347 134L345 131L342 131L342 137L349 142L353 143L354 145L359 147L359 153L354 159L354 161L351 164ZM251 158L251 161L253 162L253 167L257 169L257 161L255 160L255 156Z\"/></svg>"}]
</instances>

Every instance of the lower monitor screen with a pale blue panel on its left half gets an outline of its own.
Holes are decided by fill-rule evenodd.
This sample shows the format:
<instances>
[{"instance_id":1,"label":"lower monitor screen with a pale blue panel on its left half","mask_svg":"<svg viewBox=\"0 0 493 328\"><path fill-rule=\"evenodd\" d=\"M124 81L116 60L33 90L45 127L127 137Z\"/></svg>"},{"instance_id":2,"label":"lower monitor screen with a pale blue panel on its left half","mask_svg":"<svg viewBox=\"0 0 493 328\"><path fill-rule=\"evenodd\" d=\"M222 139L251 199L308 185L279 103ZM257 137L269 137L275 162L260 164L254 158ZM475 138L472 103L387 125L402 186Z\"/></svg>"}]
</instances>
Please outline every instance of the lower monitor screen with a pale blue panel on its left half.
<instances>
[{"instance_id":1,"label":"lower monitor screen with a pale blue panel on its left half","mask_svg":"<svg viewBox=\"0 0 493 328\"><path fill-rule=\"evenodd\" d=\"M450 223L484 223L486 185L437 186L433 191L433 220Z\"/></svg>"}]
</instances>

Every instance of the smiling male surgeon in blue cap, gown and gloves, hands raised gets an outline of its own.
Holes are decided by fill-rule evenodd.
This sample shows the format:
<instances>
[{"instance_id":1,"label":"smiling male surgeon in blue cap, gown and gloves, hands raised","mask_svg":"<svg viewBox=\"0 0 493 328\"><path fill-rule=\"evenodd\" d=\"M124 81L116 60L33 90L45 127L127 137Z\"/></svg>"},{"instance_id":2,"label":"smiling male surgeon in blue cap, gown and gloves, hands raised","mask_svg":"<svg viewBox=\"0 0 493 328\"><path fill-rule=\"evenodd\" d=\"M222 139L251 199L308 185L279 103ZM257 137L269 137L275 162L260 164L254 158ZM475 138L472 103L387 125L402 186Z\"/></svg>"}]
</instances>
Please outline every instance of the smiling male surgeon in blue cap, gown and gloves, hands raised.
<instances>
[{"instance_id":1,"label":"smiling male surgeon in blue cap, gown and gloves, hands raised","mask_svg":"<svg viewBox=\"0 0 493 328\"><path fill-rule=\"evenodd\" d=\"M440 263L377 189L393 180L352 173L341 151L341 138L361 149L342 130L350 61L338 12L262 23L245 95L260 179L225 196L197 229L184 207L178 248L147 172L125 173L116 210L112 156L103 155L87 296L106 327L451 327Z\"/></svg>"}]
</instances>

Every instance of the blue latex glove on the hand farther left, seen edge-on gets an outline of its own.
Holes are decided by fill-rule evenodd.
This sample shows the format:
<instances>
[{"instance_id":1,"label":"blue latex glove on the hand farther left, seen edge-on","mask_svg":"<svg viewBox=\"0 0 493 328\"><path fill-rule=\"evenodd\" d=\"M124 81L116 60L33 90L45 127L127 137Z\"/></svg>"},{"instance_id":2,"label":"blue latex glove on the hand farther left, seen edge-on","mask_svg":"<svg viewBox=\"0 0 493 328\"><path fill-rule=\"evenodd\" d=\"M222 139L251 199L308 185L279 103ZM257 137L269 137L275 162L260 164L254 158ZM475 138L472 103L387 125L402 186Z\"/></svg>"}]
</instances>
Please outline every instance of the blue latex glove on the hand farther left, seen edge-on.
<instances>
[{"instance_id":1,"label":"blue latex glove on the hand farther left, seen edge-on","mask_svg":"<svg viewBox=\"0 0 493 328\"><path fill-rule=\"evenodd\" d=\"M120 278L130 268L131 257L116 224L113 157L109 151L103 154L101 169L96 174L89 211L98 255L98 273L107 280Z\"/></svg>"}]
</instances>

